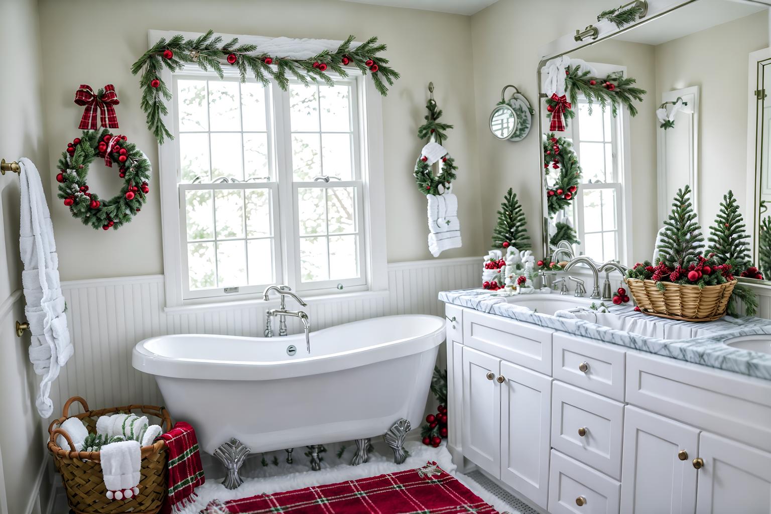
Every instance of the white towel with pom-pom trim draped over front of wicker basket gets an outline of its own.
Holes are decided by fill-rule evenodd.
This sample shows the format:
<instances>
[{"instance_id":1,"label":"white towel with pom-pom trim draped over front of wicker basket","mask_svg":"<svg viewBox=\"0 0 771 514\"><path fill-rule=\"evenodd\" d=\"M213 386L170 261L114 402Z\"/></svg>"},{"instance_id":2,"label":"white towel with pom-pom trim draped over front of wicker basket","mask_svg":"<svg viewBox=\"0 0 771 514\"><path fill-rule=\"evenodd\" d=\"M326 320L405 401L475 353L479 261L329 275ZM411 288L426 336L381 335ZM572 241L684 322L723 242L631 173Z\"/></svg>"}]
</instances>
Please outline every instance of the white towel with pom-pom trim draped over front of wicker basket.
<instances>
[{"instance_id":1,"label":"white towel with pom-pom trim draped over front of wicker basket","mask_svg":"<svg viewBox=\"0 0 771 514\"><path fill-rule=\"evenodd\" d=\"M130 499L139 494L142 450L136 441L112 442L99 452L108 499Z\"/></svg>"}]
</instances>

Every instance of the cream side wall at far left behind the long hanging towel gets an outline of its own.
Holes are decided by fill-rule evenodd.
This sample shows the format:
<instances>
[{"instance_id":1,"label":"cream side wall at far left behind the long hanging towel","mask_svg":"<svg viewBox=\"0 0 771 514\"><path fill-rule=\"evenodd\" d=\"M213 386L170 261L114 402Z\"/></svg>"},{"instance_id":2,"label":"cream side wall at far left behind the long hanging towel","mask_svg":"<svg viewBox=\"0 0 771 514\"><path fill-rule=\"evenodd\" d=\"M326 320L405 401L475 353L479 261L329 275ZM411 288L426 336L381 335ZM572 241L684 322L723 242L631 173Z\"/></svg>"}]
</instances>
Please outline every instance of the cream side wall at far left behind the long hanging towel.
<instances>
[{"instance_id":1,"label":"cream side wall at far left behind the long hanging towel","mask_svg":"<svg viewBox=\"0 0 771 514\"><path fill-rule=\"evenodd\" d=\"M46 170L48 154L42 133L42 69L37 2L0 1L0 62L18 80L0 81L0 157L26 156ZM19 52L19 49L24 49ZM15 320L23 320L19 297L19 176L0 176L0 512L42 512L50 494L49 474L38 478L49 456L43 445L45 428L35 411L37 377L27 358L29 336L16 338ZM48 426L47 423L45 426ZM30 510L28 510L30 509Z\"/></svg>"}]
</instances>

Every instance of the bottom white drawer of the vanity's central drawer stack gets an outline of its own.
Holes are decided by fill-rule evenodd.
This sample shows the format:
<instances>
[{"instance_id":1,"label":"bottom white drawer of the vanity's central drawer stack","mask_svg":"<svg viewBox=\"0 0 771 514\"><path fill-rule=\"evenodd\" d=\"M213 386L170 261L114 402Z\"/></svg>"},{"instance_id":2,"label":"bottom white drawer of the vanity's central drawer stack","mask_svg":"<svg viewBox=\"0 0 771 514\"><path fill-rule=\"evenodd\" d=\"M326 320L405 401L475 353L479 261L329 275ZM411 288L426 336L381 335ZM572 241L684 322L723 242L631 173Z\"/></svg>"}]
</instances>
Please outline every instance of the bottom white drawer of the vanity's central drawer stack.
<instances>
[{"instance_id":1,"label":"bottom white drawer of the vanity's central drawer stack","mask_svg":"<svg viewBox=\"0 0 771 514\"><path fill-rule=\"evenodd\" d=\"M614 514L618 512L620 492L621 484L614 479L560 452L551 451L551 514Z\"/></svg>"}]
</instances>

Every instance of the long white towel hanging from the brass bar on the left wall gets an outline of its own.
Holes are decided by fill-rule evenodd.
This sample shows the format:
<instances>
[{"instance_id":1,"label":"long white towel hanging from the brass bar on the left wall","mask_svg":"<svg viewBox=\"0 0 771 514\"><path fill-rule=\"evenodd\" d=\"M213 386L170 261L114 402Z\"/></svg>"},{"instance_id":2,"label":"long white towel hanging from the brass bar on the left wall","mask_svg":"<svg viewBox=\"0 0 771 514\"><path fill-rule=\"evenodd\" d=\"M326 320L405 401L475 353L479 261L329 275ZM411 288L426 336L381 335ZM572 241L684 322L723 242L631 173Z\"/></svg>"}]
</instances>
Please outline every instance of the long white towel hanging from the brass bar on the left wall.
<instances>
[{"instance_id":1,"label":"long white towel hanging from the brass bar on the left wall","mask_svg":"<svg viewBox=\"0 0 771 514\"><path fill-rule=\"evenodd\" d=\"M45 203L40 175L31 160L22 157L19 164L22 186L19 253L24 264L24 311L32 334L29 360L35 373L43 375L35 406L42 418L48 418L53 412L53 402L49 398L51 384L72 356L73 348L59 285L59 259L51 214Z\"/></svg>"}]
</instances>

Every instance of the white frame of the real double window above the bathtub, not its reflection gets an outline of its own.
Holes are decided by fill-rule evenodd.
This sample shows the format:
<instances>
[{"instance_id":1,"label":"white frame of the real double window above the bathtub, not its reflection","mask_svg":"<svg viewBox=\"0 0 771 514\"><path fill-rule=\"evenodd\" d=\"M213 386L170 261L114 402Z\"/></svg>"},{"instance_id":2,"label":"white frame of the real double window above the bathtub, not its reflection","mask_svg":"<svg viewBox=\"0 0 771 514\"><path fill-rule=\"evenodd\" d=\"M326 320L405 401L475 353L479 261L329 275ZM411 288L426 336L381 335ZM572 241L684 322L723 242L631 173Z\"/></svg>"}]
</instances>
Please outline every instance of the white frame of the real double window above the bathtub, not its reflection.
<instances>
[{"instance_id":1,"label":"white frame of the real double window above the bathtub, not its reflection","mask_svg":"<svg viewBox=\"0 0 771 514\"><path fill-rule=\"evenodd\" d=\"M161 38L170 38L179 32L150 30L148 39L150 46L154 45ZM197 37L200 33L181 32L185 37ZM254 42L259 44L266 38L250 35L230 35L223 34L224 39L238 37L241 42ZM224 66L226 78L237 76L237 69ZM184 75L200 74L200 76L211 77L210 73L202 72L195 65L186 66L182 72ZM359 138L359 144L355 147L360 152L355 156L356 164L359 168L359 176L356 180L345 182L311 182L311 183L287 183L286 176L291 180L291 148L284 144L283 136L268 136L269 143L274 145L276 156L284 156L284 159L277 159L272 162L274 181L262 183L239 183L238 188L270 188L274 191L272 200L278 204L280 220L274 220L274 248L275 248L275 277L279 284L288 284L293 289L304 291L308 295L345 295L362 294L362 291L387 291L388 289L388 271L385 246L385 180L383 166L383 148L382 148L382 96L380 96L371 79L352 70L349 72L349 79L353 82L352 90L357 96L356 106L358 113L352 116L355 126L355 134ZM216 77L216 75L214 76ZM172 85L173 74L168 69L163 69L161 79L168 85ZM271 109L273 130L275 134L289 133L288 113L284 109L288 105L289 94L282 92L278 86L271 84ZM176 91L176 89L175 89ZM284 104L285 102L285 104ZM177 106L176 99L167 102L168 113L163 116L163 123L177 131ZM280 116L281 115L281 116ZM285 119L286 118L286 119ZM269 129L270 132L270 129ZM225 294L222 288L217 288L217 294L189 294L183 292L187 289L187 274L183 273L183 266L187 266L187 250L183 251L183 245L186 245L187 228L183 219L183 210L180 203L183 199L183 190L190 189L227 189L233 188L232 184L225 183L207 183L207 184L180 184L180 163L179 163L179 144L178 139L167 139L158 146L159 166L155 173L160 180L160 207L161 207L161 226L163 234L163 270L164 287L166 293L167 311L177 307L187 307L206 303L221 303L227 301L262 301L261 291L256 291L258 287L240 287L237 294ZM289 159L287 159L287 156ZM276 182L284 179L287 186L278 186ZM359 182L360 181L360 182ZM359 232L359 265L362 267L362 279L346 279L337 281L319 281L301 284L299 281L299 236L297 206L293 195L296 195L298 187L333 187L333 186L356 186L356 196L358 203L357 230ZM296 196L295 196L296 197ZM295 204L292 209L294 215L288 216L290 212L287 204ZM295 256L295 258L290 258ZM342 285L342 289L338 287ZM198 296L198 297L195 297Z\"/></svg>"}]
</instances>

